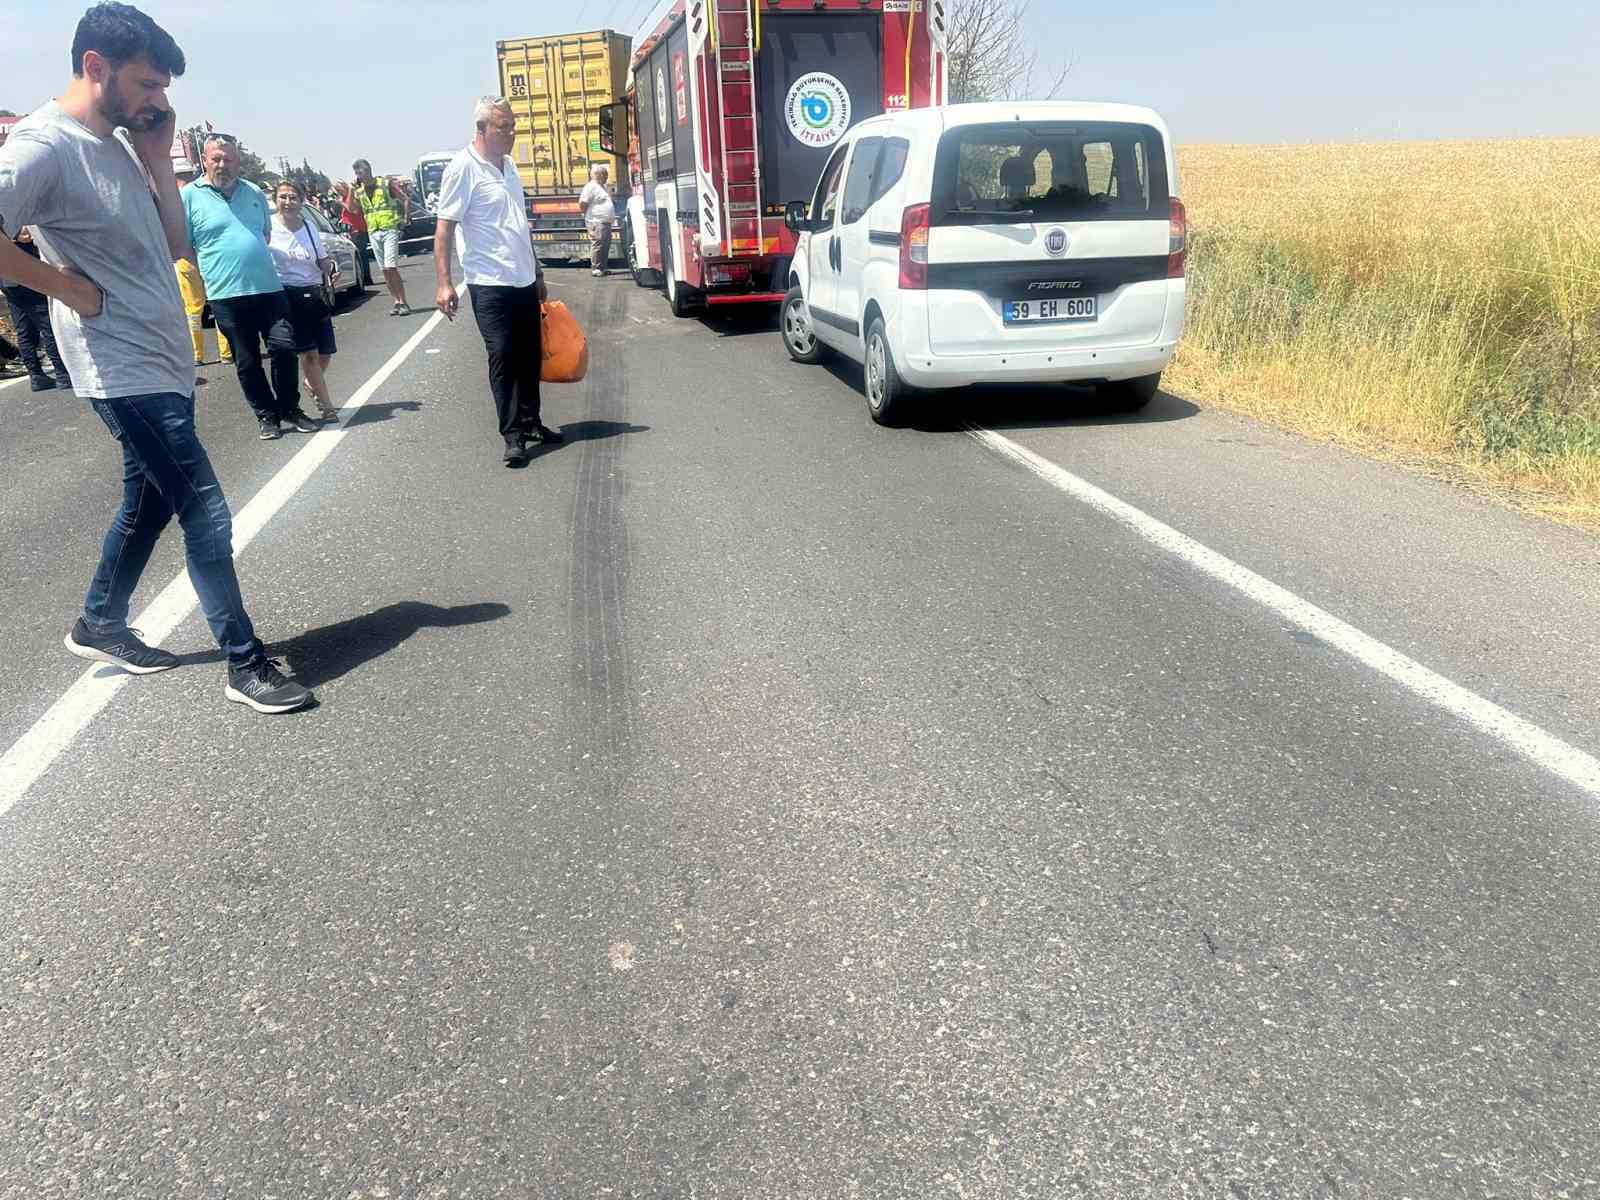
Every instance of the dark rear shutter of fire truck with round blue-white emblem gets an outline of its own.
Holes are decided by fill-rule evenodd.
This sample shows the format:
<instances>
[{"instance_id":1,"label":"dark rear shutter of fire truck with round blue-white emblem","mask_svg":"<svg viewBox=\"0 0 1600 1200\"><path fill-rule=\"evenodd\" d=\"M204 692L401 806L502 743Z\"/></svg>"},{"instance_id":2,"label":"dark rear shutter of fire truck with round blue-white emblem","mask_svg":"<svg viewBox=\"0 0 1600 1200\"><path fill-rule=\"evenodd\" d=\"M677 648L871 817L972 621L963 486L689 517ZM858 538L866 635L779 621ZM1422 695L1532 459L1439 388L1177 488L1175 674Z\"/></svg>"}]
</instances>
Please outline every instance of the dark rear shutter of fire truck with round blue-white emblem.
<instances>
[{"instance_id":1,"label":"dark rear shutter of fire truck with round blue-white emblem","mask_svg":"<svg viewBox=\"0 0 1600 1200\"><path fill-rule=\"evenodd\" d=\"M757 67L762 198L782 213L810 200L845 131L883 112L883 14L766 11Z\"/></svg>"}]
</instances>

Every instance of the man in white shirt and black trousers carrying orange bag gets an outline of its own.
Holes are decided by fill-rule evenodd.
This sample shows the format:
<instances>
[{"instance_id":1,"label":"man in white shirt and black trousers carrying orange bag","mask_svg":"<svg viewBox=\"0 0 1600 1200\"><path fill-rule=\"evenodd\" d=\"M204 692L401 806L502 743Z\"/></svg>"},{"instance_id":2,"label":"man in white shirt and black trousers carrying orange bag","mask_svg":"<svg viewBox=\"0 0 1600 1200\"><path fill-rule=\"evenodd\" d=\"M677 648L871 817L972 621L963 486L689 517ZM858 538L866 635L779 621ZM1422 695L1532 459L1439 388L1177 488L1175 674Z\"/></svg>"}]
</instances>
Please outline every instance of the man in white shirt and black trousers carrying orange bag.
<instances>
[{"instance_id":1,"label":"man in white shirt and black trousers carrying orange bag","mask_svg":"<svg viewBox=\"0 0 1600 1200\"><path fill-rule=\"evenodd\" d=\"M485 96L472 112L477 136L450 160L438 186L438 230L434 234L435 302L456 318L450 282L451 253L472 291L472 315L490 355L490 390L499 414L504 461L520 467L530 442L562 442L539 421L539 306L544 275L533 253L522 178L510 160L517 117L499 96Z\"/></svg>"}]
</instances>

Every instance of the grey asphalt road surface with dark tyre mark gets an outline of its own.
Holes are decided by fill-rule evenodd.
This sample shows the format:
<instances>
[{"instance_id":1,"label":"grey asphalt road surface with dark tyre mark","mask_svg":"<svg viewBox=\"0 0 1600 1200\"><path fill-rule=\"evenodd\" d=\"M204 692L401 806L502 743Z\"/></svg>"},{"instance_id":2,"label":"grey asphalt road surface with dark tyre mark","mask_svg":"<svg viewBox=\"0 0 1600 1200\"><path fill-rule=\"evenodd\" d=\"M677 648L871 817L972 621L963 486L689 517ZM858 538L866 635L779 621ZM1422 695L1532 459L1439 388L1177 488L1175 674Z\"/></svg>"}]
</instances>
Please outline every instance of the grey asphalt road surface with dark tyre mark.
<instances>
[{"instance_id":1,"label":"grey asphalt road surface with dark tyre mark","mask_svg":"<svg viewBox=\"0 0 1600 1200\"><path fill-rule=\"evenodd\" d=\"M466 315L243 550L320 707L192 614L0 814L0 1197L1600 1195L1600 797L966 426L1587 754L1600 544L1174 397L883 430L554 278L563 446L499 464ZM310 438L205 374L238 509ZM0 466L3 750L118 482L26 386Z\"/></svg>"}]
</instances>

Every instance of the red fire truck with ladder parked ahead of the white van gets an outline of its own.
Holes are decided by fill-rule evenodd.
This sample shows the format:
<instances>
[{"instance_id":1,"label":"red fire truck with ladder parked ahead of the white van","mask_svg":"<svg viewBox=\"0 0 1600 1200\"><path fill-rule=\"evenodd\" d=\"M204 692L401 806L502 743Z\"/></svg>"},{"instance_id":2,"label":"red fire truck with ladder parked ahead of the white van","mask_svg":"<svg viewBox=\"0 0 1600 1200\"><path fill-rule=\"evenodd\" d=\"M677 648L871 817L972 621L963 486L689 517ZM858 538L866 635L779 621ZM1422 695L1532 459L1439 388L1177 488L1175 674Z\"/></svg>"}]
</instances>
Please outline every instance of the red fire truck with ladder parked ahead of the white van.
<instances>
[{"instance_id":1,"label":"red fire truck with ladder parked ahead of the white van","mask_svg":"<svg viewBox=\"0 0 1600 1200\"><path fill-rule=\"evenodd\" d=\"M680 317L781 302L786 202L811 198L854 123L944 102L946 5L661 0L624 101L600 115L602 144L627 152L634 278L662 286Z\"/></svg>"}]
</instances>

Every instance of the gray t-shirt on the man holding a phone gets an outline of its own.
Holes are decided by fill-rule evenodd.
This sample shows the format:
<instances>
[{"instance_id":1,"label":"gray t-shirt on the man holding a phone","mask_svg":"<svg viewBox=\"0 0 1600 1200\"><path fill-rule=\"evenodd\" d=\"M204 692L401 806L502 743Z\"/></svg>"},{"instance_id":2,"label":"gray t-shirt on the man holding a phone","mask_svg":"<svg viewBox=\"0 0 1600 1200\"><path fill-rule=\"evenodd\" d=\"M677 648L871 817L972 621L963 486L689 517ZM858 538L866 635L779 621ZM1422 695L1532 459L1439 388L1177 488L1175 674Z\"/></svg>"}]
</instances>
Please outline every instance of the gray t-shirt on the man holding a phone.
<instances>
[{"instance_id":1,"label":"gray t-shirt on the man holding a phone","mask_svg":"<svg viewBox=\"0 0 1600 1200\"><path fill-rule=\"evenodd\" d=\"M195 365L178 274L133 147L101 138L51 101L0 146L0 222L34 226L46 262L106 293L98 317L50 301L56 346L82 397L194 395Z\"/></svg>"}]
</instances>

